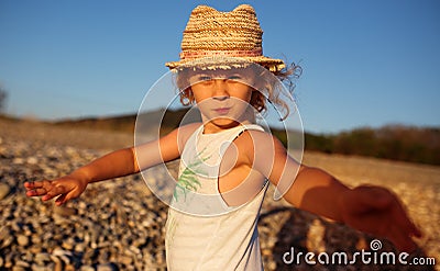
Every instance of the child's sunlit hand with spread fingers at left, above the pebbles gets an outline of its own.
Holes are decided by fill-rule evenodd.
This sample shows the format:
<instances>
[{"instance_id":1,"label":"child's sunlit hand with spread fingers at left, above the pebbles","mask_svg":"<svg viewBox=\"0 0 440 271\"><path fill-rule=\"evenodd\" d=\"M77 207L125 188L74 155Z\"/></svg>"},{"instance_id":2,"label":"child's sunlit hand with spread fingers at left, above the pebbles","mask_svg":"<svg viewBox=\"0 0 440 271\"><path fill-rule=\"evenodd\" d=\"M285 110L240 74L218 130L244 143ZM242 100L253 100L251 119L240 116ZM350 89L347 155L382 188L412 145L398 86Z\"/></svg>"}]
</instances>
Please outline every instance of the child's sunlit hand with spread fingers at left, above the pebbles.
<instances>
[{"instance_id":1,"label":"child's sunlit hand with spread fingers at left, above the pebbles","mask_svg":"<svg viewBox=\"0 0 440 271\"><path fill-rule=\"evenodd\" d=\"M28 196L42 196L43 201L48 201L55 196L56 205L62 205L69 200L78 197L87 187L87 182L79 178L66 176L53 181L32 181L25 182L24 188L28 190Z\"/></svg>"}]
</instances>

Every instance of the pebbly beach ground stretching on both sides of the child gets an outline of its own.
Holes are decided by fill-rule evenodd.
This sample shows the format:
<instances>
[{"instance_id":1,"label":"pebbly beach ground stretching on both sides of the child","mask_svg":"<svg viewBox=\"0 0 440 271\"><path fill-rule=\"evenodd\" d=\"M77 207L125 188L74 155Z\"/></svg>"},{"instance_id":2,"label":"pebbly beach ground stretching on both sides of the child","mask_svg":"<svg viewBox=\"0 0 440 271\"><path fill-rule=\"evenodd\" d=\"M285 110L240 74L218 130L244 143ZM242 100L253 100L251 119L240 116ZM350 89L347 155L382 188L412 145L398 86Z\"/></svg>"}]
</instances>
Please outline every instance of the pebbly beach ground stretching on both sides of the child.
<instances>
[{"instance_id":1,"label":"pebbly beach ground stretching on both sides of the child","mask_svg":"<svg viewBox=\"0 0 440 271\"><path fill-rule=\"evenodd\" d=\"M91 184L63 207L24 195L25 181L68 173L111 149L130 145L130 134L0 118L0 270L166 270L163 226L167 206L150 192L141 176ZM407 260L439 261L439 167L322 154L306 154L305 162L328 170L349 185L373 183L392 189L425 234L418 240L419 249ZM153 169L148 178L165 173ZM361 260L308 264L299 252L352 257L356 251L373 252L370 246L375 238L283 201L274 202L271 192L258 230L266 270L436 270L433 266L364 264ZM388 241L380 241L377 252L398 256ZM292 248L297 258L283 261Z\"/></svg>"}]
</instances>

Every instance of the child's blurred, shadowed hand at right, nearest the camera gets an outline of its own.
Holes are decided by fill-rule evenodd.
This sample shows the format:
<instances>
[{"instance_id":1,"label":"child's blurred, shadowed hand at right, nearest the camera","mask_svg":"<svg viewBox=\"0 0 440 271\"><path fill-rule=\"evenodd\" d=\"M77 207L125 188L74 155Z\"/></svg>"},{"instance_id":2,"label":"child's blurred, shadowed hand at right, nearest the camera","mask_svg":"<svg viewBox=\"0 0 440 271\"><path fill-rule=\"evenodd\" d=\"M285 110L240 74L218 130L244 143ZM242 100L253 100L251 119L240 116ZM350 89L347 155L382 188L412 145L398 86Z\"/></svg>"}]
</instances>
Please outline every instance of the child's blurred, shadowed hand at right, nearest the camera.
<instances>
[{"instance_id":1,"label":"child's blurred, shadowed hand at right, nearest the camera","mask_svg":"<svg viewBox=\"0 0 440 271\"><path fill-rule=\"evenodd\" d=\"M416 249L411 237L421 237L421 233L389 190L380 187L358 187L342 194L340 207L346 225L385 237L400 250Z\"/></svg>"}]
</instances>

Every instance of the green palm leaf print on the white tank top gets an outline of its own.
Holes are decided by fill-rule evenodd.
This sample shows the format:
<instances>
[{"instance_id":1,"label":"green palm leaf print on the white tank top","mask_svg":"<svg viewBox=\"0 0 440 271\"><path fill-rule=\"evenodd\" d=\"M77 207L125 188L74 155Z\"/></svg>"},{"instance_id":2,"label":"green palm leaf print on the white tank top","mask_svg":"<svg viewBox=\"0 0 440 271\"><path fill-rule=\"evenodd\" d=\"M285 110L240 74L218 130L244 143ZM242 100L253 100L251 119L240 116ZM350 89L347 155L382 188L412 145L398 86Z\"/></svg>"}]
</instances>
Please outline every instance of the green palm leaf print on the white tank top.
<instances>
[{"instance_id":1,"label":"green palm leaf print on the white tank top","mask_svg":"<svg viewBox=\"0 0 440 271\"><path fill-rule=\"evenodd\" d=\"M205 148L206 149L206 148ZM205 150L204 149L204 150ZM200 155L204 153L200 151ZM200 155L197 155L193 162L190 162L182 174L179 176L176 184L176 189L174 190L174 199L178 201L178 195L184 194L186 199L186 194L188 190L196 192L200 187L201 183L197 180L197 176L206 176L207 172L200 169L200 166L208 160L210 157L200 158Z\"/></svg>"}]
</instances>

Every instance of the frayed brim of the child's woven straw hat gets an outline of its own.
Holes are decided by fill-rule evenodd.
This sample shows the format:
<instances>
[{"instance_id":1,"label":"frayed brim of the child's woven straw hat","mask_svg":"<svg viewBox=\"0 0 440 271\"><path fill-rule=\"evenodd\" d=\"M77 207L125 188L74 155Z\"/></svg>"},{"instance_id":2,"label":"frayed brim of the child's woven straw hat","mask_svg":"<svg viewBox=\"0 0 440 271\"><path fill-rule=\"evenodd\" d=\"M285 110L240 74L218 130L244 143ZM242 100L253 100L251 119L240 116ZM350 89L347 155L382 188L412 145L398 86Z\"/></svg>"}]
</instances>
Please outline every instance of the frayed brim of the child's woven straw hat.
<instances>
[{"instance_id":1,"label":"frayed brim of the child's woven straw hat","mask_svg":"<svg viewBox=\"0 0 440 271\"><path fill-rule=\"evenodd\" d=\"M197 59L182 59L179 61L165 63L165 66L172 70L186 68L200 70L243 68L250 64L258 64L271 71L278 71L286 67L282 59L270 58L265 56L256 57L204 57Z\"/></svg>"}]
</instances>

